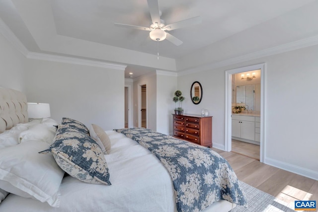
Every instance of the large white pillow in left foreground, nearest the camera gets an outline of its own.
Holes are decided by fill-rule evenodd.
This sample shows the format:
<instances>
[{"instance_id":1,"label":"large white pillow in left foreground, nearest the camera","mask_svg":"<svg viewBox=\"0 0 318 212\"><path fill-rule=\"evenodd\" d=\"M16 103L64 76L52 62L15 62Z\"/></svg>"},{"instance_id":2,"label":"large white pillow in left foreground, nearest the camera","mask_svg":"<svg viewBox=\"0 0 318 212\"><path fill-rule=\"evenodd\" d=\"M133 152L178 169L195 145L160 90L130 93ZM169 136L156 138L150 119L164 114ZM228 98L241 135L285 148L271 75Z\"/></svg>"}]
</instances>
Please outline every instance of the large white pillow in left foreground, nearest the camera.
<instances>
[{"instance_id":1,"label":"large white pillow in left foreground, nearest the camera","mask_svg":"<svg viewBox=\"0 0 318 212\"><path fill-rule=\"evenodd\" d=\"M51 154L38 153L48 147L29 141L0 149L0 189L59 207L64 171Z\"/></svg>"}]
</instances>

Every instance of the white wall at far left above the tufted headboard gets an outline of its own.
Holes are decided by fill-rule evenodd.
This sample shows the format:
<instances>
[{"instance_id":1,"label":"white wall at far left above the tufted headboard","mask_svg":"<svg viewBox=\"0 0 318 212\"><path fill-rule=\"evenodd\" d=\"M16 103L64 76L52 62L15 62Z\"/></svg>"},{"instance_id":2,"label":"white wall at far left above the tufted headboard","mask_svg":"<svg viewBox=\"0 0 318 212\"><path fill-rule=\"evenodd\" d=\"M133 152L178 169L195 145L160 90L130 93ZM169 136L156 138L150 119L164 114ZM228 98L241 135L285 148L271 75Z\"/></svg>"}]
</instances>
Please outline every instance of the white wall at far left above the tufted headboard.
<instances>
[{"instance_id":1,"label":"white wall at far left above the tufted headboard","mask_svg":"<svg viewBox=\"0 0 318 212\"><path fill-rule=\"evenodd\" d=\"M0 87L25 91L25 57L0 33Z\"/></svg>"}]
</instances>

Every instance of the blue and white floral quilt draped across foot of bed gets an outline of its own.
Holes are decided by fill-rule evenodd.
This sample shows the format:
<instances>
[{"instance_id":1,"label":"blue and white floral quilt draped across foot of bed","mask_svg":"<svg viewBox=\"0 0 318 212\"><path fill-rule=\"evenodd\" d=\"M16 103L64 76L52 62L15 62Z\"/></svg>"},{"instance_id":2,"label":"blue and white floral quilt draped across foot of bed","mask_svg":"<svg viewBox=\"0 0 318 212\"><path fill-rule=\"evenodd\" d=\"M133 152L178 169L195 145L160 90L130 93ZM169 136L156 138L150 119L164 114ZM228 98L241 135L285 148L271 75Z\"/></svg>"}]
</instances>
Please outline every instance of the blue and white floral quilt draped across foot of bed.
<instances>
[{"instance_id":1,"label":"blue and white floral quilt draped across foot of bed","mask_svg":"<svg viewBox=\"0 0 318 212\"><path fill-rule=\"evenodd\" d=\"M247 206L226 159L210 148L145 128L115 129L149 149L168 170L178 212L199 212L219 200Z\"/></svg>"}]
</instances>

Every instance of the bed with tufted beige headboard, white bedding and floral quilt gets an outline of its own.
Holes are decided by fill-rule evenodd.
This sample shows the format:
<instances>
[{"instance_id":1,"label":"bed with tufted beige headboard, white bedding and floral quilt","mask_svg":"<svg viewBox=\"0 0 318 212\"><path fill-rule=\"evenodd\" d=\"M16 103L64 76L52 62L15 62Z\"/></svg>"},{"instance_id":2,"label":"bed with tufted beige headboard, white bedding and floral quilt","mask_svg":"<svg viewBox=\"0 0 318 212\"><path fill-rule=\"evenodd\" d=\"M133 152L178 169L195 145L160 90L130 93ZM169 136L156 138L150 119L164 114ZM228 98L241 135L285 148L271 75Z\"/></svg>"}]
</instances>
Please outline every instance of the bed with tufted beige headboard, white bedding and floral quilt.
<instances>
[{"instance_id":1,"label":"bed with tufted beige headboard, white bedding and floral quilt","mask_svg":"<svg viewBox=\"0 0 318 212\"><path fill-rule=\"evenodd\" d=\"M101 132L70 118L28 122L25 95L7 88L0 88L0 109L0 211L225 212L247 206L232 168L209 148L147 129ZM166 143L192 149L192 157L208 151L223 161L212 171L224 177L209 175L209 162L198 162L205 156L191 165ZM182 160L176 165L173 157ZM192 166L204 167L202 173L183 179L182 170ZM219 190L203 195L197 188L208 188L207 182Z\"/></svg>"}]
</instances>

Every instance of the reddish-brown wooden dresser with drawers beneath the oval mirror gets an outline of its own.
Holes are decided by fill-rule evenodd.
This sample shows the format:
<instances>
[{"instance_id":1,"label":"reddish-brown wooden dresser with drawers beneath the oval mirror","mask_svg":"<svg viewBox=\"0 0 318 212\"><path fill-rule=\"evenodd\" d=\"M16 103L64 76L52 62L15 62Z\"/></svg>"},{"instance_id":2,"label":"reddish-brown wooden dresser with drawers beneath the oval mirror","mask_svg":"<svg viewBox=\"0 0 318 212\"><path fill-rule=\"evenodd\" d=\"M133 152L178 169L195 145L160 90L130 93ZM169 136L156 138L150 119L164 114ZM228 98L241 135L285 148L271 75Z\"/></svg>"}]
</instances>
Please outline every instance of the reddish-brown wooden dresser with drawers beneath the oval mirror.
<instances>
[{"instance_id":1,"label":"reddish-brown wooden dresser with drawers beneath the oval mirror","mask_svg":"<svg viewBox=\"0 0 318 212\"><path fill-rule=\"evenodd\" d=\"M173 117L173 137L212 147L212 116L193 114Z\"/></svg>"}]
</instances>

